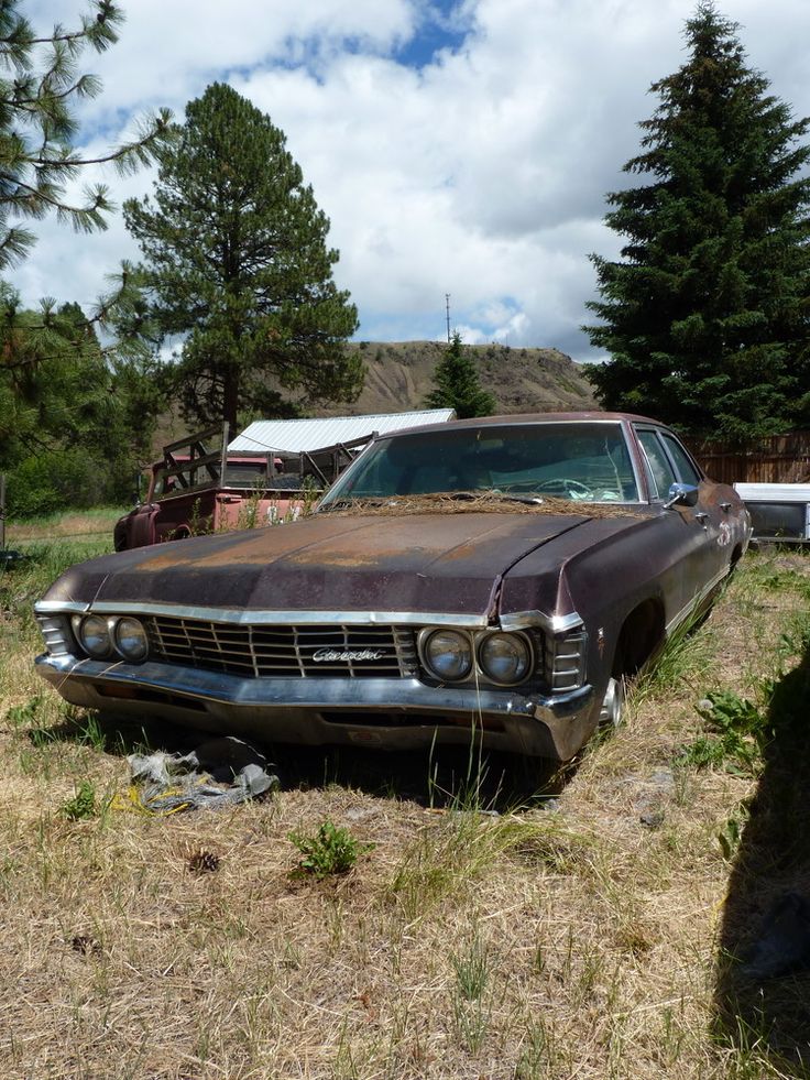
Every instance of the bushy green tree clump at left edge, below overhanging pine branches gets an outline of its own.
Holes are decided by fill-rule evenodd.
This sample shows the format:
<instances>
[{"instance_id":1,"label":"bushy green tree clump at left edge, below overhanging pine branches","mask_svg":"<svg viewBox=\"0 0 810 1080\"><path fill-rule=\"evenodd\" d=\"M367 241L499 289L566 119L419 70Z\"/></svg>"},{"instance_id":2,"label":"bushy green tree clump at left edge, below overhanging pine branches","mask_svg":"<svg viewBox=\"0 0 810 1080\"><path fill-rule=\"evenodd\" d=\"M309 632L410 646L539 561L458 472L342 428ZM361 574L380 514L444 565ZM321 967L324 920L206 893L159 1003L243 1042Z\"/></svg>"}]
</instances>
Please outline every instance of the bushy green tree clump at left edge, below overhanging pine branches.
<instances>
[{"instance_id":1,"label":"bushy green tree clump at left edge, below overhanging pine branches","mask_svg":"<svg viewBox=\"0 0 810 1080\"><path fill-rule=\"evenodd\" d=\"M52 513L129 498L147 460L153 417L165 403L154 372L110 357L78 304L13 310L0 364L0 472L10 512Z\"/></svg>"}]
</instances>

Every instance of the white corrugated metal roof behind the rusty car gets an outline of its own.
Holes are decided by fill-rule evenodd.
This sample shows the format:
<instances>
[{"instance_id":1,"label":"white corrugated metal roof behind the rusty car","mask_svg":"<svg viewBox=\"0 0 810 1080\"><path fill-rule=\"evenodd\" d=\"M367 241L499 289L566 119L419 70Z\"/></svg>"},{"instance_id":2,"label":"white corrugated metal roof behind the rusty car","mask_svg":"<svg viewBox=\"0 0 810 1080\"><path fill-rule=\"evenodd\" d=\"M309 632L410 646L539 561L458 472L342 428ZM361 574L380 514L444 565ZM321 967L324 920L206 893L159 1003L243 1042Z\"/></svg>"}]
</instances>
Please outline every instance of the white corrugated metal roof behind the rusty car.
<instances>
[{"instance_id":1,"label":"white corrugated metal roof behind the rusty car","mask_svg":"<svg viewBox=\"0 0 810 1080\"><path fill-rule=\"evenodd\" d=\"M442 424L455 417L452 408L429 408L415 413L379 413L373 416L326 416L319 419L255 421L238 435L228 449L232 452L251 450L319 450L337 443L351 443L374 432L398 432L420 424Z\"/></svg>"}]
</instances>

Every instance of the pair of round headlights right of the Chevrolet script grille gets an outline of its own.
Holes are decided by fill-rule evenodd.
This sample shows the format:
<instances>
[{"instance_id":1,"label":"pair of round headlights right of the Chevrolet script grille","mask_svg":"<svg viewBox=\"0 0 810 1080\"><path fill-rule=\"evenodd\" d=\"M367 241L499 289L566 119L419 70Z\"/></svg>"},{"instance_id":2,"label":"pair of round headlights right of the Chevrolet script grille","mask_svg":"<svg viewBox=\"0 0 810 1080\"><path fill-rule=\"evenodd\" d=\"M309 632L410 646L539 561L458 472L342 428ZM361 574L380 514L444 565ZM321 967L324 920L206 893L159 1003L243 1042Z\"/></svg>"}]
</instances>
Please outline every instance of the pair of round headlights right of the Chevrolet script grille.
<instances>
[{"instance_id":1,"label":"pair of round headlights right of the Chevrolet script grille","mask_svg":"<svg viewBox=\"0 0 810 1080\"><path fill-rule=\"evenodd\" d=\"M525 634L494 631L427 630L419 639L427 672L442 683L463 683L475 669L490 683L515 686L535 667L534 647Z\"/></svg>"}]
</instances>

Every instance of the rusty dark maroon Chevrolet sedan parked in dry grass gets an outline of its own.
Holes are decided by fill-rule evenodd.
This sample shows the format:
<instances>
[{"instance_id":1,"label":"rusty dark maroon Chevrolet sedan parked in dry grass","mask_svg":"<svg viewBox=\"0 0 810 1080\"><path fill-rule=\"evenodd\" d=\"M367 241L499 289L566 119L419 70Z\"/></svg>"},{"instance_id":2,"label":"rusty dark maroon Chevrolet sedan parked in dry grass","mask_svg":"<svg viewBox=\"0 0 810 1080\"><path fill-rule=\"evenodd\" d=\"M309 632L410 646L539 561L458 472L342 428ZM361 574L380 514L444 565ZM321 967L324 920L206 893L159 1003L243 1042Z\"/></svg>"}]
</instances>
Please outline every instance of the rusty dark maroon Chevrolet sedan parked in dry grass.
<instances>
[{"instance_id":1,"label":"rusty dark maroon Chevrolet sedan parked in dry grass","mask_svg":"<svg viewBox=\"0 0 810 1080\"><path fill-rule=\"evenodd\" d=\"M434 425L375 439L306 520L73 567L36 604L36 665L105 713L567 760L748 536L655 421Z\"/></svg>"}]
</instances>

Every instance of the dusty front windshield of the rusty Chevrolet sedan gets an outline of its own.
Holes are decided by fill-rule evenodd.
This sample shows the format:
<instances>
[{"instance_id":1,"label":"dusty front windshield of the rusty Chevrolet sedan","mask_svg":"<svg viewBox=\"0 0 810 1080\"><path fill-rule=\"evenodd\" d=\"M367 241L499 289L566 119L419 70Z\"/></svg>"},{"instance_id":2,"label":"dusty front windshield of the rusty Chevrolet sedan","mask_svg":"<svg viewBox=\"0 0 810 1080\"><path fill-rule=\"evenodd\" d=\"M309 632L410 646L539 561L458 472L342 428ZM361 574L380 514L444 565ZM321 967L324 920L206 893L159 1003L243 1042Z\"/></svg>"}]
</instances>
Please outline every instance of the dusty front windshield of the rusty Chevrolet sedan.
<instances>
[{"instance_id":1,"label":"dusty front windshield of the rusty Chevrolet sedan","mask_svg":"<svg viewBox=\"0 0 810 1080\"><path fill-rule=\"evenodd\" d=\"M347 499L457 491L639 501L621 425L591 422L448 428L382 438L333 484L321 508Z\"/></svg>"}]
</instances>

